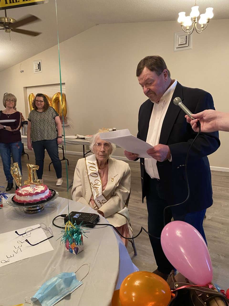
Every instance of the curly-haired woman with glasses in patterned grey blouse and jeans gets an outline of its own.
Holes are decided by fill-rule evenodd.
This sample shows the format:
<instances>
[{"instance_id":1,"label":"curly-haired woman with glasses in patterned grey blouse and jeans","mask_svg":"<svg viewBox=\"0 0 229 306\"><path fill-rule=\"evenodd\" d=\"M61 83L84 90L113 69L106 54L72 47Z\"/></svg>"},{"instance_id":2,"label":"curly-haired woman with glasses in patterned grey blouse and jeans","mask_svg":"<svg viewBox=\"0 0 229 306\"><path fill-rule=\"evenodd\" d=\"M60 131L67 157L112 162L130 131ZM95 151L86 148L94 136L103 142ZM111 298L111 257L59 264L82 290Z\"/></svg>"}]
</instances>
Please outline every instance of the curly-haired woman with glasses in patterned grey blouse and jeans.
<instances>
[{"instance_id":1,"label":"curly-haired woman with glasses in patterned grey blouse and jeans","mask_svg":"<svg viewBox=\"0 0 229 306\"><path fill-rule=\"evenodd\" d=\"M60 186L63 183L58 153L58 145L62 143L60 117L43 94L36 95L32 107L28 117L27 147L34 150L36 165L39 166L38 179L42 179L46 149L56 171L56 186Z\"/></svg>"}]
</instances>

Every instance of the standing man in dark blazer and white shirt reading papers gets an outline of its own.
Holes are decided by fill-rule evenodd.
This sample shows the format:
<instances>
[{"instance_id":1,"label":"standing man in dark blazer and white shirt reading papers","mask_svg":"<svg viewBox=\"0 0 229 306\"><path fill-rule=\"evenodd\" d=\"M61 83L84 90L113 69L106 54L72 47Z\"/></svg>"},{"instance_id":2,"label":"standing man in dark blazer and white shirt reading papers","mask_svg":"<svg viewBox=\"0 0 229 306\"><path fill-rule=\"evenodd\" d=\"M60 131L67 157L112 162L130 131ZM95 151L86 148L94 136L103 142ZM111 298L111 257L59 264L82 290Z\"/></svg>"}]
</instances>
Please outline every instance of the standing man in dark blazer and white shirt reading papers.
<instances>
[{"instance_id":1,"label":"standing man in dark blazer and white shirt reading papers","mask_svg":"<svg viewBox=\"0 0 229 306\"><path fill-rule=\"evenodd\" d=\"M180 97L192 113L214 109L214 104L208 92L184 87L177 80L172 80L160 56L142 59L136 75L144 94L149 98L140 106L137 137L154 147L147 151L149 159L140 158L142 201L146 197L148 231L160 237L164 227L164 208L187 198L185 159L196 136L191 125L187 124L184 112L173 103L173 99ZM166 223L172 217L190 223L205 241L203 219L206 208L213 203L207 155L215 152L219 146L218 132L200 133L191 148L187 163L189 199L182 205L166 209ZM138 159L138 155L132 152L124 153L129 160ZM165 257L160 240L150 237L150 241L158 266L154 273L167 279L173 266Z\"/></svg>"}]
</instances>

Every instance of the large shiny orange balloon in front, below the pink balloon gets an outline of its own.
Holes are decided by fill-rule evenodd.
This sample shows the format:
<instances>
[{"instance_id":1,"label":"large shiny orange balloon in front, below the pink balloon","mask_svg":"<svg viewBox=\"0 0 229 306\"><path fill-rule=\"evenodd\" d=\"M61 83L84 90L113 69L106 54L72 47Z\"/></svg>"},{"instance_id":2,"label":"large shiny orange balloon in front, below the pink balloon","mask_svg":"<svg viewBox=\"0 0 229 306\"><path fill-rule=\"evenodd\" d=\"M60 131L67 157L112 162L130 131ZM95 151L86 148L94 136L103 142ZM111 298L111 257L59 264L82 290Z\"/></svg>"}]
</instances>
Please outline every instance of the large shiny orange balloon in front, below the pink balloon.
<instances>
[{"instance_id":1,"label":"large shiny orange balloon in front, below the pink balloon","mask_svg":"<svg viewBox=\"0 0 229 306\"><path fill-rule=\"evenodd\" d=\"M123 280L119 297L122 306L167 306L171 300L171 290L160 276L138 271Z\"/></svg>"}]
</instances>

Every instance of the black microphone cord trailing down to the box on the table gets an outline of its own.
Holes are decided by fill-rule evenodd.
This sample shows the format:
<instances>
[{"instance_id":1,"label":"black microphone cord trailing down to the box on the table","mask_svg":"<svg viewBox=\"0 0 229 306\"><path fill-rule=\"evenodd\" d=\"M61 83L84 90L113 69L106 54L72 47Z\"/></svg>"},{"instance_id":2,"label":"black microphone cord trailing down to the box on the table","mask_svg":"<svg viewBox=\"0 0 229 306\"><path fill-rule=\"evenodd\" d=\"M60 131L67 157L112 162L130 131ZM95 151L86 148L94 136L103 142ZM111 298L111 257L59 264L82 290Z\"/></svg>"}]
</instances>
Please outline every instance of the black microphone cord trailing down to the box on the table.
<instances>
[{"instance_id":1,"label":"black microphone cord trailing down to the box on the table","mask_svg":"<svg viewBox=\"0 0 229 306\"><path fill-rule=\"evenodd\" d=\"M174 207L174 206L178 206L178 205L184 204L185 202L187 202L187 200L189 199L189 196L190 196L190 188L189 188L188 176L187 176L187 162L188 162L188 157L189 157L189 154L190 154L190 151L191 151L191 147L193 146L194 142L196 141L197 137L198 137L199 134L200 134L200 130L201 130L201 129L200 129L200 123L199 123L199 121L197 122L197 125L198 125L198 127L199 127L199 131L198 131L196 137L194 138L194 140L192 141L192 143L191 143L191 145L190 145L190 147L189 147L189 149L188 149L187 156L186 156L186 160L185 160L185 181L186 181L187 190L188 190L187 198L186 198L183 202L181 202L181 203L174 204L174 205L168 205L168 206L166 206L166 207L164 208L164 212L163 212L164 226L165 226L165 211L166 211L166 209L169 208L169 207ZM63 217L63 218L65 218L66 216L67 216L66 214L56 216L56 217L53 219L53 225L56 226L56 227L59 227L59 228L61 228L61 229L62 229L62 228L65 228L65 226L58 226L58 225L56 225L56 224L54 223L54 220L55 220L57 217ZM83 224L83 226L89 226L89 225L91 225L91 224ZM116 230L116 232L117 232L122 238L125 238L125 239L135 239L136 237L138 237L138 236L140 235L140 233L142 232L142 230L144 230L149 236L151 236L151 237L153 237L153 238L161 239L161 237L155 237L155 236L153 236L152 234L150 234L149 232L147 232L147 230L145 230L143 226L141 226L140 232L139 232L136 236L131 237L131 238L127 238L127 237L122 236L122 234L119 233L119 231L118 231L118 230L115 228L115 226L113 226L112 224L101 224L101 223L99 223L99 224L95 224L95 225L111 226L111 227L113 227L113 228Z\"/></svg>"}]
</instances>

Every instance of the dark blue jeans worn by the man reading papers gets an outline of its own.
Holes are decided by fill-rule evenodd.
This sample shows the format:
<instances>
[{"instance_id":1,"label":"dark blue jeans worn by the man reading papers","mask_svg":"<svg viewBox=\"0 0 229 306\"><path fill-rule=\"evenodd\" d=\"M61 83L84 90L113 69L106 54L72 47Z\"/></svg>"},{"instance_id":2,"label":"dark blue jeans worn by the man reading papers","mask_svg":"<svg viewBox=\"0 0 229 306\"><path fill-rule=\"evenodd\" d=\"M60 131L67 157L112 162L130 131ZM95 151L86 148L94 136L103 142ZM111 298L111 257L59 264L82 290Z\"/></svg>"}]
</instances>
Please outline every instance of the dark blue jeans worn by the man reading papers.
<instances>
[{"instance_id":1,"label":"dark blue jeans worn by the man reading papers","mask_svg":"<svg viewBox=\"0 0 229 306\"><path fill-rule=\"evenodd\" d=\"M168 201L165 199L168 199L168 197L162 190L160 181L147 177L146 203L148 210L148 232L155 237L161 236L161 232L164 227L164 208L170 205L170 203L168 203ZM205 233L203 229L203 220L205 212L206 209L202 211L191 212L185 215L179 215L177 213L172 212L170 208L167 208L165 215L165 223L167 224L171 222L172 217L175 221L187 222L194 226L199 231L199 233L201 233L202 237L206 242ZM153 238L151 236L149 236L149 238L154 252L154 257L158 266L158 271L169 274L171 270L174 270L174 267L166 258L162 250L161 240Z\"/></svg>"}]
</instances>

